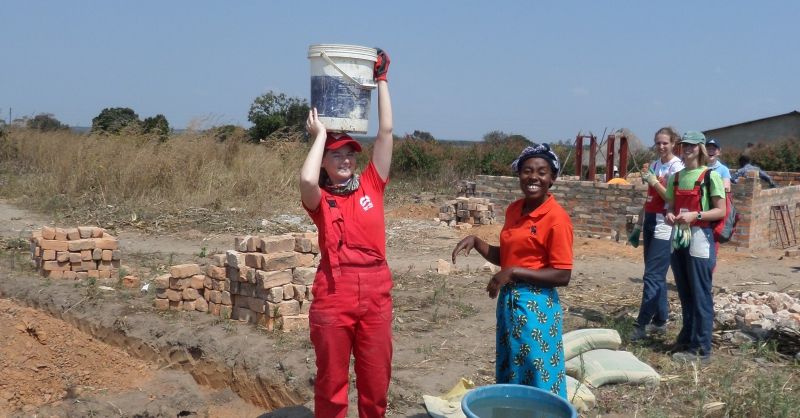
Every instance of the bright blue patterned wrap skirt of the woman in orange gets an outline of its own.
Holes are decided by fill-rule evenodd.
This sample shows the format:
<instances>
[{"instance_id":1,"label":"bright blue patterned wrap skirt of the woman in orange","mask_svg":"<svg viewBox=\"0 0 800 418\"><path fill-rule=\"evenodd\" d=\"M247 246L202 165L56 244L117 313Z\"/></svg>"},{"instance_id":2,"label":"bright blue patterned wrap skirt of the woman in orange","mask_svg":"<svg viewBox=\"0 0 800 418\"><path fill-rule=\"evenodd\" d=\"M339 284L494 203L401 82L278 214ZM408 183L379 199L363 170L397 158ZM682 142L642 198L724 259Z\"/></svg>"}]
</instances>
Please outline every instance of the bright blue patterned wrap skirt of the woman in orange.
<instances>
[{"instance_id":1,"label":"bright blue patterned wrap skirt of the woman in orange","mask_svg":"<svg viewBox=\"0 0 800 418\"><path fill-rule=\"evenodd\" d=\"M563 314L554 288L507 284L497 298L497 383L567 398Z\"/></svg>"}]
</instances>

